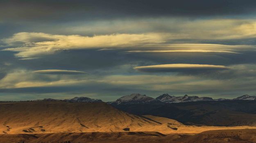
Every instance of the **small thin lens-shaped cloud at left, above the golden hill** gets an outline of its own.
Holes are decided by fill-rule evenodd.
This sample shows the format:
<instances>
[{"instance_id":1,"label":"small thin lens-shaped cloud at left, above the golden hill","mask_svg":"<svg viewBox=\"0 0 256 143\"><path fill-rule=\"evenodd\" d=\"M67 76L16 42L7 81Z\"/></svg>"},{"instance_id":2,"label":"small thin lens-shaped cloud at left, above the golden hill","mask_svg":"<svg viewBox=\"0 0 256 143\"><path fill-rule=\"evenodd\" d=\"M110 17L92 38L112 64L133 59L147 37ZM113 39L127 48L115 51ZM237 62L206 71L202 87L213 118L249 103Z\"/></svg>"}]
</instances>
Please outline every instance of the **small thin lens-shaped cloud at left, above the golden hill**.
<instances>
[{"instance_id":1,"label":"small thin lens-shaped cloud at left, above the golden hill","mask_svg":"<svg viewBox=\"0 0 256 143\"><path fill-rule=\"evenodd\" d=\"M77 74L86 74L86 72L77 71L77 70L35 70L33 73L39 74L63 74L63 75L77 75Z\"/></svg>"}]
</instances>

